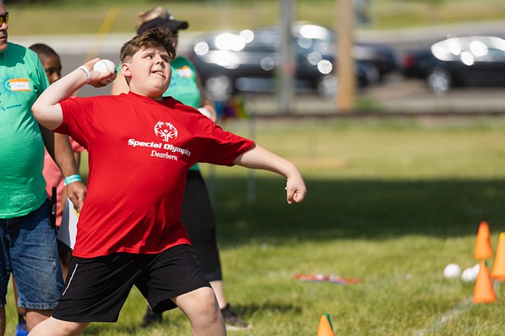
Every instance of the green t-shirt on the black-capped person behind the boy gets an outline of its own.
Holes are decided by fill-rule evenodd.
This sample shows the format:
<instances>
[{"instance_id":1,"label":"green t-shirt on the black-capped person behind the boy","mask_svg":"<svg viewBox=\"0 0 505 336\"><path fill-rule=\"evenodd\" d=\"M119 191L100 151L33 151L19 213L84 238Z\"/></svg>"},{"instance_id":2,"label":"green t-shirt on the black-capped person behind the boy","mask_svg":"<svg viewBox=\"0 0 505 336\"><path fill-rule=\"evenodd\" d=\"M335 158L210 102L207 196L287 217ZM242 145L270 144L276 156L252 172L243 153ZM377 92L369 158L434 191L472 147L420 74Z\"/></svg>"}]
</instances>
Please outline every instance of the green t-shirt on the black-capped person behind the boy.
<instances>
[{"instance_id":1,"label":"green t-shirt on the black-capped person behind the boy","mask_svg":"<svg viewBox=\"0 0 505 336\"><path fill-rule=\"evenodd\" d=\"M163 96L171 96L184 105L198 109L201 106L200 89L196 83L196 70L186 57L177 56L170 62L172 67L172 80ZM198 170L194 165L190 170Z\"/></svg>"}]
</instances>

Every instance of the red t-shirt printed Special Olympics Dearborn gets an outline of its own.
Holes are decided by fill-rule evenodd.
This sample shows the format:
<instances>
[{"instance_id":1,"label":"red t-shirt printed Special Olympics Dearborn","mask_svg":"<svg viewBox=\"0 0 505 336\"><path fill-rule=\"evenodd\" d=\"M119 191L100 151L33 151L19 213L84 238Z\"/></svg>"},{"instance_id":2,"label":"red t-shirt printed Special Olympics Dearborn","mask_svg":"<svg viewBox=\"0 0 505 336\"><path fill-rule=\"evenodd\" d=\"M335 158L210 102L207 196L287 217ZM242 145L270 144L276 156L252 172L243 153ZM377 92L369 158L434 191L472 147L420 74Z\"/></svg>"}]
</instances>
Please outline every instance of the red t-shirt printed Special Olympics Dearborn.
<instances>
[{"instance_id":1,"label":"red t-shirt printed Special Olympics Dearborn","mask_svg":"<svg viewBox=\"0 0 505 336\"><path fill-rule=\"evenodd\" d=\"M179 219L187 170L197 162L231 166L254 145L171 97L158 102L130 92L60 105L56 132L89 153L74 247L81 258L189 244Z\"/></svg>"}]
</instances>

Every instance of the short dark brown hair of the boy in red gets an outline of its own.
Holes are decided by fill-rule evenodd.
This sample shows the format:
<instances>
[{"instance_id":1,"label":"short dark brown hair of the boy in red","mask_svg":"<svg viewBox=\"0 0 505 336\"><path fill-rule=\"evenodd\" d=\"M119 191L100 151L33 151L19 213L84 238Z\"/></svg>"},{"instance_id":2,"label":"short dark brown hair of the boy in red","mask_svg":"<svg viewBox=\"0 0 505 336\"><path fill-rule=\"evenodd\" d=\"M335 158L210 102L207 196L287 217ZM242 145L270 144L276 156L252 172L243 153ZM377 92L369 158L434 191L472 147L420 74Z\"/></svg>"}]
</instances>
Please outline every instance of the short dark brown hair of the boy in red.
<instances>
[{"instance_id":1,"label":"short dark brown hair of the boy in red","mask_svg":"<svg viewBox=\"0 0 505 336\"><path fill-rule=\"evenodd\" d=\"M175 48L172 44L172 34L168 29L149 29L144 31L126 42L119 52L119 59L125 62L126 59L133 57L141 49L152 49L163 47L168 52L170 59L175 58Z\"/></svg>"}]
</instances>

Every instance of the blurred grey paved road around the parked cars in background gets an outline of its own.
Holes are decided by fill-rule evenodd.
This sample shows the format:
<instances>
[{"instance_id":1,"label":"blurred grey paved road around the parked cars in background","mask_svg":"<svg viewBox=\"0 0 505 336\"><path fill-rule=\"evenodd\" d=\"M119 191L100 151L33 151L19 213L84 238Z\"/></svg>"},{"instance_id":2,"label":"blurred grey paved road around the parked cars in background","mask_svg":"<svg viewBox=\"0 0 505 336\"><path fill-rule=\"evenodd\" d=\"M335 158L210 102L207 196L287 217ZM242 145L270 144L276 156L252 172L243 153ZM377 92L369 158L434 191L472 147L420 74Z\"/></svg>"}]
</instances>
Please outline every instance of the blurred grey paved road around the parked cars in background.
<instances>
[{"instance_id":1,"label":"blurred grey paved road around the parked cars in background","mask_svg":"<svg viewBox=\"0 0 505 336\"><path fill-rule=\"evenodd\" d=\"M198 36L207 33L184 31L180 35L178 52L184 53L191 48L191 43ZM356 32L358 41L384 43L390 45L402 57L407 50L424 48L435 41L456 36L494 35L503 37L505 21L476 22L436 27L420 27L398 31L376 31L359 29ZM119 64L119 50L132 34L110 34L107 36L10 36L9 40L25 46L33 43L46 43L61 56L63 73L68 73L81 65L87 56L111 59ZM89 55L90 50L92 54ZM93 52L95 50L95 52ZM110 87L95 89L86 85L79 91L79 96L109 94ZM505 87L457 88L444 97L429 93L421 80L404 80L398 73L386 78L384 83L367 87L358 92L358 99L372 108L389 112L501 112L505 111ZM248 107L258 115L275 114L277 99L271 94L248 94ZM299 94L292 104L293 114L335 113L335 102L321 99L314 94Z\"/></svg>"}]
</instances>

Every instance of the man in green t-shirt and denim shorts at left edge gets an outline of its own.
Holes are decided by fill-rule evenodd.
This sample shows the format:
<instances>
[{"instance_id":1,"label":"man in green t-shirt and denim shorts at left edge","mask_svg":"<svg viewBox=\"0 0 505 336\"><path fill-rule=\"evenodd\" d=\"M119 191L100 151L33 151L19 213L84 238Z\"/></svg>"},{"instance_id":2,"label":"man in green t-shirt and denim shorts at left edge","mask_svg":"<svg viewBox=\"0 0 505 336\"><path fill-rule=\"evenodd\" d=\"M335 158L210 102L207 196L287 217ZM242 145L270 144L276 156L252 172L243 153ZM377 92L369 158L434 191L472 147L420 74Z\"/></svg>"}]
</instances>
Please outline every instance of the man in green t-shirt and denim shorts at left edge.
<instances>
[{"instance_id":1,"label":"man in green t-shirt and denim shorts at left edge","mask_svg":"<svg viewBox=\"0 0 505 336\"><path fill-rule=\"evenodd\" d=\"M76 209L86 195L68 137L32 116L32 104L49 83L36 53L7 41L8 16L0 0L0 336L11 272L29 329L50 316L63 286L42 175L44 145L67 176Z\"/></svg>"}]
</instances>

